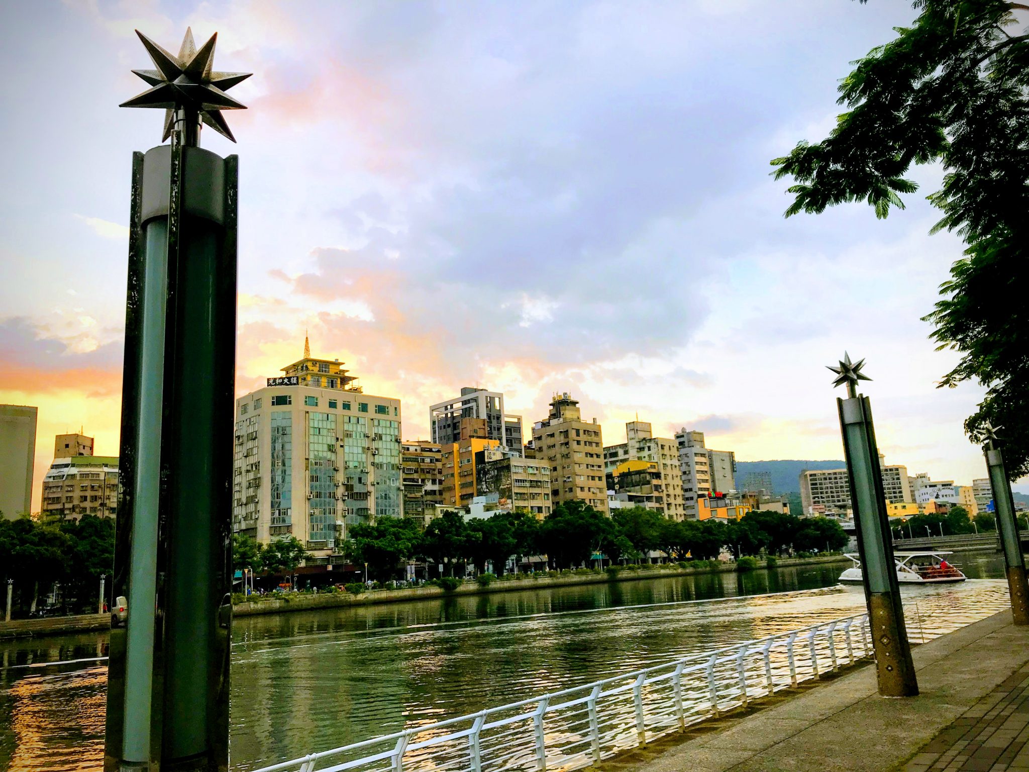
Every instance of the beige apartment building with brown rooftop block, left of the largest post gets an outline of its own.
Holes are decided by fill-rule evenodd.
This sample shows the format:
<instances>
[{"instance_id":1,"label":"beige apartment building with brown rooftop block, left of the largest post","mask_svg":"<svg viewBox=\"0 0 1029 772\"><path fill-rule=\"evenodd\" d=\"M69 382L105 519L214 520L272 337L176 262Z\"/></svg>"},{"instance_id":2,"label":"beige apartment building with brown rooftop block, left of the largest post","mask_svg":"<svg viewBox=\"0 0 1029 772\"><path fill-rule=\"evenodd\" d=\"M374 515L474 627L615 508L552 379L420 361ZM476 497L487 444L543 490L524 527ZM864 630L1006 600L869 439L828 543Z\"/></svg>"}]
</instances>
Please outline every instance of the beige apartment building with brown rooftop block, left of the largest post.
<instances>
[{"instance_id":1,"label":"beige apartment building with brown rooftop block, left of the largest post","mask_svg":"<svg viewBox=\"0 0 1029 772\"><path fill-rule=\"evenodd\" d=\"M40 515L44 520L78 520L83 515L113 518L118 508L118 458L93 455L94 440L58 434L54 462L43 478Z\"/></svg>"}]
</instances>

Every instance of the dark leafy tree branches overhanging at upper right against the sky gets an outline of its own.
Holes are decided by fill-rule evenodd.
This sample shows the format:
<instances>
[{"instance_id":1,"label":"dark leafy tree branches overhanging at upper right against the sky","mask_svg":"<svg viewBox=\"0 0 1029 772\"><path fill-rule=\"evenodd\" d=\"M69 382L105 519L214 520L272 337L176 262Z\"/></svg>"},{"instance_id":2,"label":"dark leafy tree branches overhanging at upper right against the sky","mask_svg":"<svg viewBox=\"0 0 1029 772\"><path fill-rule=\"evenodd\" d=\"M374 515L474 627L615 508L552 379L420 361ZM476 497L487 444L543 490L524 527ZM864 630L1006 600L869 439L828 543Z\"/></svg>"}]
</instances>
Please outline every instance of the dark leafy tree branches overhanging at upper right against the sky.
<instances>
[{"instance_id":1,"label":"dark leafy tree branches overhanging at upper right against the sky","mask_svg":"<svg viewBox=\"0 0 1029 772\"><path fill-rule=\"evenodd\" d=\"M919 0L915 22L856 62L840 85L848 108L829 136L774 160L791 176L786 210L822 212L866 201L879 217L903 208L912 164L939 162L943 186L928 197L943 212L934 231L956 231L964 257L925 319L941 349L961 357L941 381L988 386L965 421L1004 427L1012 480L1029 471L1029 306L1023 283L1029 245L1029 35L1012 35L1007 0Z\"/></svg>"}]
</instances>

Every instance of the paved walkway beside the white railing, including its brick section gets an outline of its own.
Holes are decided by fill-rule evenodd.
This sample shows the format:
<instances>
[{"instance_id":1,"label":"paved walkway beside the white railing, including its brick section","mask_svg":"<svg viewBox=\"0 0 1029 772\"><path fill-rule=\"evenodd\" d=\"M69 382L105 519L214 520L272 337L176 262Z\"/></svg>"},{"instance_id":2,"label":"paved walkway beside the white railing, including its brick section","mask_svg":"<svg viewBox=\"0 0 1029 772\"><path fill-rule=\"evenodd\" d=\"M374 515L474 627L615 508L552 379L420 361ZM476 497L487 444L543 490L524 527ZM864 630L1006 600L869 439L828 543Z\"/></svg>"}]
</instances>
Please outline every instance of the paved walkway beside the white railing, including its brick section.
<instances>
[{"instance_id":1,"label":"paved walkway beside the white railing, including its brick section","mask_svg":"<svg viewBox=\"0 0 1029 772\"><path fill-rule=\"evenodd\" d=\"M930 764L965 742L944 766L931 768L993 770L1018 744L1005 757L1012 766L996 769L1020 769L1014 766L1020 763L1020 743L1029 739L1023 720L1029 710L1029 629L1016 628L1010 620L1004 611L917 646L919 697L880 697L875 669L866 666L598 767L601 772L886 772L911 763L920 765L911 772L928 772ZM923 748L928 756L916 756ZM959 756L965 757L960 763ZM971 766L961 766L966 764Z\"/></svg>"}]
</instances>

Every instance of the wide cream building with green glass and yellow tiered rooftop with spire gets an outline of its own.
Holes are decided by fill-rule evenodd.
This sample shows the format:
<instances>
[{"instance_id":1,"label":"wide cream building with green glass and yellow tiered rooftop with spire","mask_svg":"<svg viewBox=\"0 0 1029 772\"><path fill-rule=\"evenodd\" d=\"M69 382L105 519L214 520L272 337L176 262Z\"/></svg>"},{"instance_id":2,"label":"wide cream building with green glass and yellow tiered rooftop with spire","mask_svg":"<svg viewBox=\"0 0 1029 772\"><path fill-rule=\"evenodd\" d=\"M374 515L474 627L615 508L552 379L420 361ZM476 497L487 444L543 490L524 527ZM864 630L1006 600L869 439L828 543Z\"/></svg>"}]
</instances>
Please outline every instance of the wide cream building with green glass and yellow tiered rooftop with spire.
<instances>
[{"instance_id":1,"label":"wide cream building with green glass and yellow tiered rooftop with spire","mask_svg":"<svg viewBox=\"0 0 1029 772\"><path fill-rule=\"evenodd\" d=\"M236 400L233 529L342 562L350 526L401 515L400 400L363 393L306 341L304 354Z\"/></svg>"}]
</instances>

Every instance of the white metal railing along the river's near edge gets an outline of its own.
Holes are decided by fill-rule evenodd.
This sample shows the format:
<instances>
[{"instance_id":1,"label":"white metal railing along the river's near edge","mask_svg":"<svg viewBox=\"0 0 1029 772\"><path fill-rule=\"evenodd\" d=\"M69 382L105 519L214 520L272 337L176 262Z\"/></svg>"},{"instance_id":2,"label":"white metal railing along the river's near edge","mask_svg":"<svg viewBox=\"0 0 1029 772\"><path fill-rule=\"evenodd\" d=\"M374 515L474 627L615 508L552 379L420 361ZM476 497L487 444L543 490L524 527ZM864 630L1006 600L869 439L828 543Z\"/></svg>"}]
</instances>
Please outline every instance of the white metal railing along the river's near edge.
<instances>
[{"instance_id":1,"label":"white metal railing along the river's near edge","mask_svg":"<svg viewBox=\"0 0 1029 772\"><path fill-rule=\"evenodd\" d=\"M856 615L254 772L580 769L871 655L867 615Z\"/></svg>"}]
</instances>

